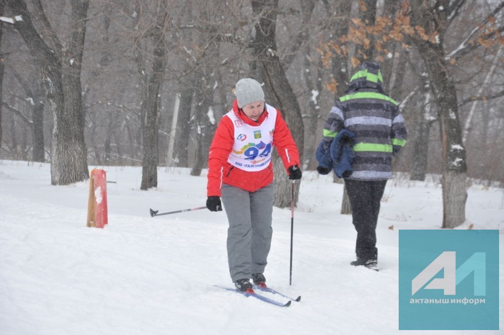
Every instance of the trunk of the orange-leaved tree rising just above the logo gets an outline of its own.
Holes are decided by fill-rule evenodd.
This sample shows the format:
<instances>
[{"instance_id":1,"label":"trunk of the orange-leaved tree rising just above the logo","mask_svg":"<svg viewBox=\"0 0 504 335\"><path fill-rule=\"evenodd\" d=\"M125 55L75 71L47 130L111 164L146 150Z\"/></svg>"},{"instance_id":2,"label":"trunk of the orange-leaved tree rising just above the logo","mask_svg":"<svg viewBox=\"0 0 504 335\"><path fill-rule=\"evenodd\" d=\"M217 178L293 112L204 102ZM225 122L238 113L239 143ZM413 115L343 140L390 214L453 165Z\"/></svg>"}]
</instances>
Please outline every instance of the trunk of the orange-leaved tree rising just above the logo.
<instances>
[{"instance_id":1,"label":"trunk of the orange-leaved tree rising just above the logo","mask_svg":"<svg viewBox=\"0 0 504 335\"><path fill-rule=\"evenodd\" d=\"M446 8L449 8L448 2L441 3L439 5L446 5ZM426 66L439 108L443 145L443 228L454 228L466 219L467 164L457 108L457 90L445 59L443 44L450 13L448 10L440 13L436 11L437 17L434 20L432 15L435 9L428 7L421 0L412 1L411 9L412 24L421 27L428 36L436 32L439 39L433 41L415 38L414 43Z\"/></svg>"}]
</instances>

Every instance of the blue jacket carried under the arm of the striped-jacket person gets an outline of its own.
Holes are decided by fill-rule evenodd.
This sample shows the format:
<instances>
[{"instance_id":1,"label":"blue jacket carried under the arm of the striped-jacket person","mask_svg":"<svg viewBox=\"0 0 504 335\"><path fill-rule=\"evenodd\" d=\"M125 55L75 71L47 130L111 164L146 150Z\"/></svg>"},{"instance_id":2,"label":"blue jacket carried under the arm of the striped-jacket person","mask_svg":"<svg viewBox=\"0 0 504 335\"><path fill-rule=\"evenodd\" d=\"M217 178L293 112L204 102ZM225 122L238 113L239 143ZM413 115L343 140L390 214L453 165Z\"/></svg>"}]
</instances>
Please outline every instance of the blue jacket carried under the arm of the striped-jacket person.
<instances>
[{"instance_id":1,"label":"blue jacket carried under the arm of the striped-jacket person","mask_svg":"<svg viewBox=\"0 0 504 335\"><path fill-rule=\"evenodd\" d=\"M338 178L349 178L353 173L354 139L355 134L347 129L338 132L329 148L329 142L323 139L315 153L319 162L317 171L321 175L327 175L332 169Z\"/></svg>"}]
</instances>

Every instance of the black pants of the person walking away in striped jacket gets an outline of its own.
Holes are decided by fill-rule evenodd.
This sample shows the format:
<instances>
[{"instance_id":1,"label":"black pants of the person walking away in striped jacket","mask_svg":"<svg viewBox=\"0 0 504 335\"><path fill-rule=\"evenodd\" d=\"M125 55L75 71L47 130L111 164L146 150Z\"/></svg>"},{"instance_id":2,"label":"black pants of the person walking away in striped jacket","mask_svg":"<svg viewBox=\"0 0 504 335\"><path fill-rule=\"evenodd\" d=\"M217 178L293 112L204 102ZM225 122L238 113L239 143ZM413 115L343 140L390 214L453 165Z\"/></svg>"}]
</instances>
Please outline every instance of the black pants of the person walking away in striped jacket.
<instances>
[{"instance_id":1,"label":"black pants of the person walking away in striped jacket","mask_svg":"<svg viewBox=\"0 0 504 335\"><path fill-rule=\"evenodd\" d=\"M363 259L377 259L376 222L380 213L387 180L358 181L345 179L345 187L352 206L352 222L357 231L355 254Z\"/></svg>"}]
</instances>

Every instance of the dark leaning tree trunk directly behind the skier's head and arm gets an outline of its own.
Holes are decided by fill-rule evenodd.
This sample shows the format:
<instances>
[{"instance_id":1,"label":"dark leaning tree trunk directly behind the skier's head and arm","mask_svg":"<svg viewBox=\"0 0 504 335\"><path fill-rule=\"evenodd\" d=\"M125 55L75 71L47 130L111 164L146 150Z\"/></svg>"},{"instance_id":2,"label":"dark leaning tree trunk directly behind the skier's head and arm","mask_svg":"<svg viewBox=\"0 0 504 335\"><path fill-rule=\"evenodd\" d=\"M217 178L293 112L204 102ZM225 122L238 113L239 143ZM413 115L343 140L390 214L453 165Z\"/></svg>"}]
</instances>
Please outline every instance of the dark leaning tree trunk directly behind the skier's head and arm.
<instances>
[{"instance_id":1,"label":"dark leaning tree trunk directly behind the skier's head and arm","mask_svg":"<svg viewBox=\"0 0 504 335\"><path fill-rule=\"evenodd\" d=\"M260 17L256 24L256 39L253 42L256 61L253 70L257 71L259 81L264 83L266 101L284 113L285 121L294 137L302 161L304 146L304 125L297 97L290 86L285 71L280 64L276 46L276 21L278 0L252 1L252 9ZM291 181L279 159L273 160L277 193L274 205L290 207ZM276 166L275 166L276 165ZM280 172L282 171L282 172ZM296 194L300 182L296 183Z\"/></svg>"}]
</instances>

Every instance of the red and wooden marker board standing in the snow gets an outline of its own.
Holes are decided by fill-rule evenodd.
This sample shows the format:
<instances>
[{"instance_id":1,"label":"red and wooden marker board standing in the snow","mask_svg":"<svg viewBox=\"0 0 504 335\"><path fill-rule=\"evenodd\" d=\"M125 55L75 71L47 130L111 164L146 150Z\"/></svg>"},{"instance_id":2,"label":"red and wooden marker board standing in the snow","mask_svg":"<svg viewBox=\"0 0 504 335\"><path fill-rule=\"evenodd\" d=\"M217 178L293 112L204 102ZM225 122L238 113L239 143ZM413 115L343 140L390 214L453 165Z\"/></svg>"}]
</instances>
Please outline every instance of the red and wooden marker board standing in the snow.
<instances>
[{"instance_id":1,"label":"red and wooden marker board standing in the snow","mask_svg":"<svg viewBox=\"0 0 504 335\"><path fill-rule=\"evenodd\" d=\"M93 169L89 176L89 200L87 227L103 228L107 218L107 174L105 170Z\"/></svg>"}]
</instances>

